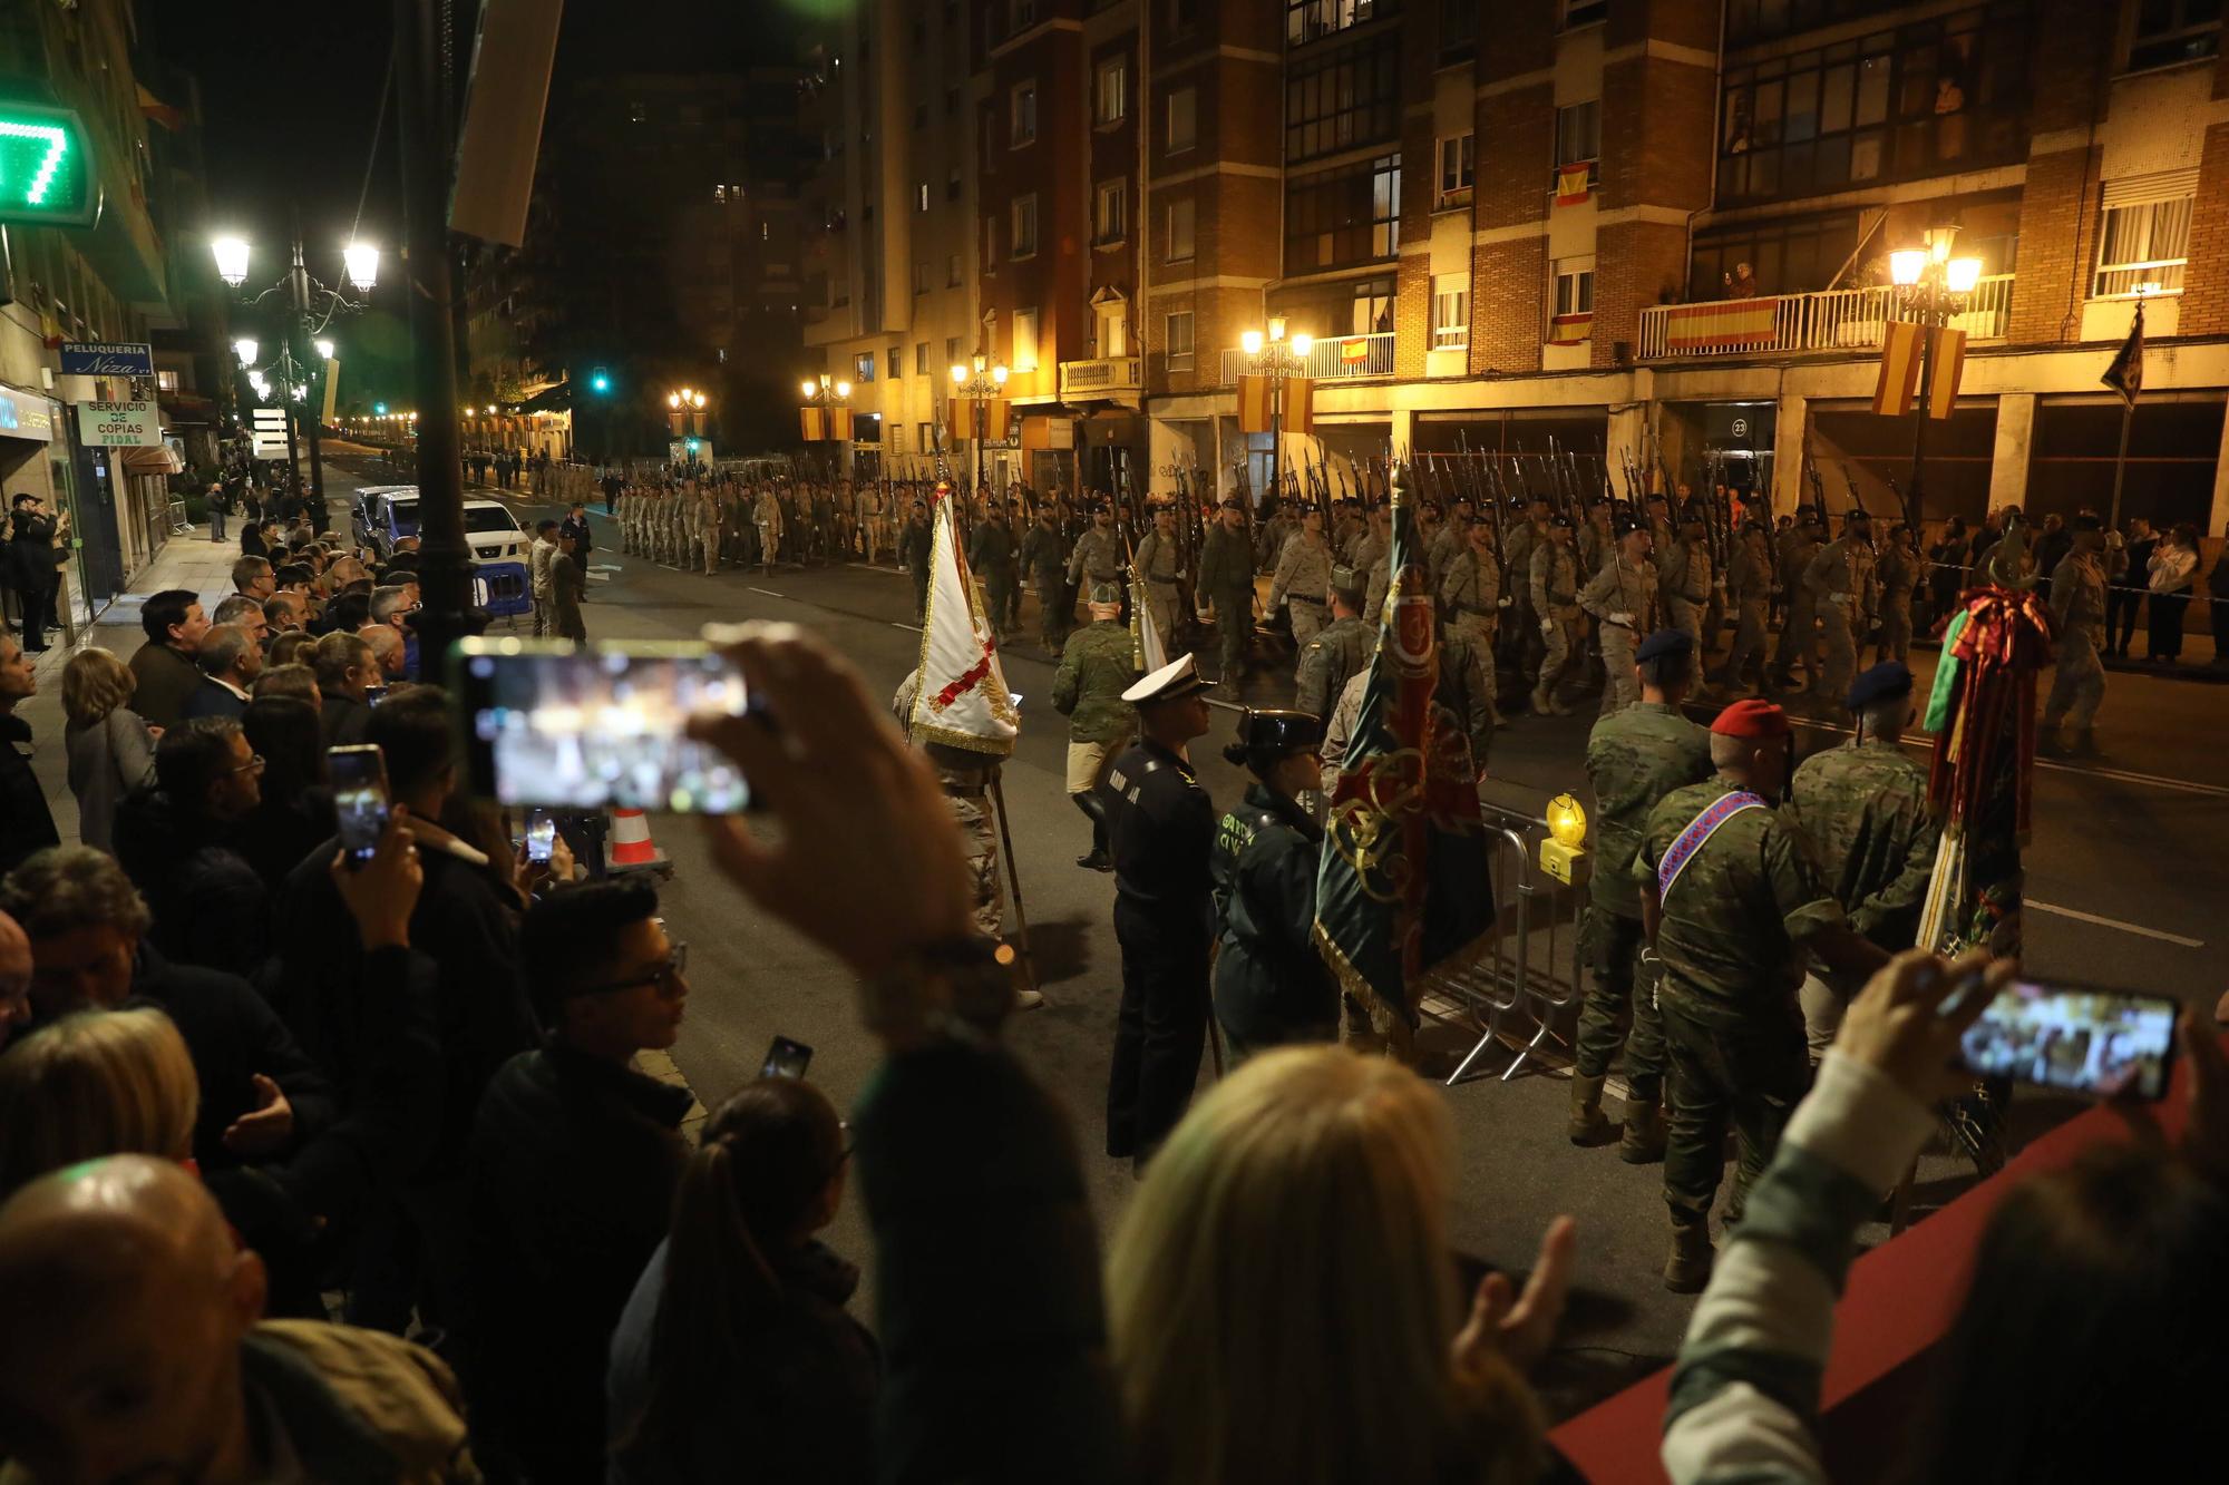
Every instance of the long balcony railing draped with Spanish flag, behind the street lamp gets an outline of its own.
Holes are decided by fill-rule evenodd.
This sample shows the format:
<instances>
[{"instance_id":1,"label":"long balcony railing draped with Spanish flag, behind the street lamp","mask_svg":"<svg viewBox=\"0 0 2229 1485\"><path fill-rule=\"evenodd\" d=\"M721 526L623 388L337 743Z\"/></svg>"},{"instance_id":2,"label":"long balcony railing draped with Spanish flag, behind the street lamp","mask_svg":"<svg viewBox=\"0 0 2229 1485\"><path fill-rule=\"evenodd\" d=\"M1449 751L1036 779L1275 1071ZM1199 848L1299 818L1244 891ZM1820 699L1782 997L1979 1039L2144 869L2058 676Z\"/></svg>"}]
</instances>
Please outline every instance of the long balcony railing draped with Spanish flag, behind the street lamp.
<instances>
[{"instance_id":1,"label":"long balcony railing draped with Spanish flag, behind the street lamp","mask_svg":"<svg viewBox=\"0 0 2229 1485\"><path fill-rule=\"evenodd\" d=\"M1707 303L1658 303L1641 310L1641 359L1801 355L1870 350L1897 319L1897 292L1886 285L1763 294ZM2013 274L1982 279L1966 312L1950 321L1975 341L2002 341L2013 317Z\"/></svg>"}]
</instances>

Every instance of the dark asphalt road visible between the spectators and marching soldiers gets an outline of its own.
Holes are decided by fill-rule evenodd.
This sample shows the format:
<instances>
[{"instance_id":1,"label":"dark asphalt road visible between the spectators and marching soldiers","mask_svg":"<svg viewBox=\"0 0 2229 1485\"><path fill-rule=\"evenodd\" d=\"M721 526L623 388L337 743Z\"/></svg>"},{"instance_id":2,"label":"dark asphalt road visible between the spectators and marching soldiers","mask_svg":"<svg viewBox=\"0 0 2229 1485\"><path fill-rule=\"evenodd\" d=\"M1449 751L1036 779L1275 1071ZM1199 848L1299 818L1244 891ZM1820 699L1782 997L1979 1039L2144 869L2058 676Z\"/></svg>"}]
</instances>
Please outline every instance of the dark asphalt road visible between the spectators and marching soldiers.
<instances>
[{"instance_id":1,"label":"dark asphalt road visible between the spectators and marching soldiers","mask_svg":"<svg viewBox=\"0 0 2229 1485\"><path fill-rule=\"evenodd\" d=\"M522 517L539 513L519 502ZM789 620L849 656L878 696L894 691L916 660L912 589L894 571L678 573L620 555L617 528L600 513L595 520L586 606L593 638L675 638L713 620ZM1088 832L1063 794L1065 725L1050 707L1052 658L1032 642L1003 658L1008 685L1023 696L1005 798L1048 997L1043 1010L1016 1017L1010 1039L1074 1122L1101 1233L1110 1233L1132 1184L1128 1162L1099 1153L1119 997L1112 881L1074 865ZM1933 660L1933 651L1915 660L1921 658ZM1213 656L1204 660L1213 671ZM1288 693L1288 680L1268 682L1246 700L1273 705ZM1489 796L1536 812L1563 789L1585 794L1580 751L1592 720L1592 707L1567 718L1518 718L1496 736ZM2042 767L2028 850L2031 972L2164 990L2200 1006L2229 988L2222 968L2229 930L2220 921L2229 903L2229 769L2218 740L2225 720L2229 687L2118 673L2100 718L2109 756L2095 765ZM1830 742L1832 734L1805 729L1805 749ZM1239 771L1208 747L1195 751L1215 800L1235 800ZM689 1021L675 1061L698 1097L718 1101L753 1077L776 1032L816 1048L811 1077L838 1104L856 1095L874 1068L874 1044L854 1023L845 977L718 876L693 821L655 818L653 832L675 865L669 923L691 943ZM843 883L827 890L843 892ZM874 912L874 903L858 908ZM1427 1072L1444 1077L1473 1039L1471 1026L1429 1028ZM1505 1061L1496 1050L1485 1068L1498 1072ZM1522 1269L1549 1217L1578 1217L1580 1287L1551 1385L1558 1416L1670 1358L1692 1309L1690 1300L1665 1293L1656 1275L1665 1249L1658 1168L1625 1166L1609 1148L1569 1146L1565 1097L1563 1057L1542 1059L1507 1084L1485 1077L1447 1090L1462 1151L1453 1231L1464 1251ZM2015 1135L2033 1135L2069 1113L2064 1099L2024 1097ZM1970 1166L1933 1155L1921 1166L1919 1211L1968 1182ZM856 1211L840 1220L836 1244L854 1258L867 1255Z\"/></svg>"}]
</instances>

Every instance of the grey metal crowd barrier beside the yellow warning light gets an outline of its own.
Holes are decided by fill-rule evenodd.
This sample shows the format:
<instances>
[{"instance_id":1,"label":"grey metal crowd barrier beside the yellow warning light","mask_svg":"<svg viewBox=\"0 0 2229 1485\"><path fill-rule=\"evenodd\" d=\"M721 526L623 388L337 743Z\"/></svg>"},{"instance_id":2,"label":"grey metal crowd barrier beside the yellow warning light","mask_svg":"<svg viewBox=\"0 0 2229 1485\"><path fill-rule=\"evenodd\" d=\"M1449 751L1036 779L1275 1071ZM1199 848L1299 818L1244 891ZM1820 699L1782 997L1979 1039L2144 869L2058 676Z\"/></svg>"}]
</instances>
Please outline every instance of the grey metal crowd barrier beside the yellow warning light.
<instances>
[{"instance_id":1,"label":"grey metal crowd barrier beside the yellow warning light","mask_svg":"<svg viewBox=\"0 0 2229 1485\"><path fill-rule=\"evenodd\" d=\"M1576 1006L1583 990L1580 914L1585 887L1567 887L1540 870L1547 821L1480 805L1493 841L1493 952L1449 986L1480 1026L1478 1041L1447 1075L1447 1086L1464 1081L1487 1048L1502 1044L1502 1021L1518 1010L1534 1019L1534 1032L1502 1068L1500 1081L1516 1077L1540 1044L1556 1037L1554 1015ZM1571 910L1569 930L1563 914ZM1563 1037L1556 1037L1563 1041Z\"/></svg>"}]
</instances>

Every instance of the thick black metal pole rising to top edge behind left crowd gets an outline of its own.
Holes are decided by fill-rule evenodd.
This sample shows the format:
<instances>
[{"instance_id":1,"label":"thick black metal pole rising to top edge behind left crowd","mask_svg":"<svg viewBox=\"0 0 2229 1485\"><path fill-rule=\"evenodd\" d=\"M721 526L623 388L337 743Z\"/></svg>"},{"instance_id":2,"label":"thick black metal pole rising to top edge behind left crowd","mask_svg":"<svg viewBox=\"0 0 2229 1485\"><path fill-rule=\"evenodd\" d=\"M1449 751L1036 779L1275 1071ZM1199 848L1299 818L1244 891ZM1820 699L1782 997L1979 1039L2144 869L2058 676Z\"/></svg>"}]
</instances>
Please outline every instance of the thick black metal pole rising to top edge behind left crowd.
<instances>
[{"instance_id":1,"label":"thick black metal pole rising to top edge behind left crowd","mask_svg":"<svg viewBox=\"0 0 2229 1485\"><path fill-rule=\"evenodd\" d=\"M448 187L452 169L444 98L444 11L435 0L395 0L395 123L403 172L403 292L410 299L410 370L419 404L419 653L421 673L448 678L448 649L473 633L473 564L464 544L457 466L457 337L450 319Z\"/></svg>"}]
</instances>

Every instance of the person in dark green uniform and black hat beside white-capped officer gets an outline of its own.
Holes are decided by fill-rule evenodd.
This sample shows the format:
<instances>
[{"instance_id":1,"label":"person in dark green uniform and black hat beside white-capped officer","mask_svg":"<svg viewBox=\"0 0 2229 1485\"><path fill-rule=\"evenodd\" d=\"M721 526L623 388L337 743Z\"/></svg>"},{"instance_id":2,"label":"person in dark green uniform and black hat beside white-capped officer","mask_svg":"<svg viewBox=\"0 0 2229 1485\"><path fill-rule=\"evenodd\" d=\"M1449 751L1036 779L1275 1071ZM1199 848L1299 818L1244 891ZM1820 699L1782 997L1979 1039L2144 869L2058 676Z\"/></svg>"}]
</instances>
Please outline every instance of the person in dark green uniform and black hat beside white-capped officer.
<instances>
[{"instance_id":1,"label":"person in dark green uniform and black hat beside white-capped officer","mask_svg":"<svg viewBox=\"0 0 2229 1485\"><path fill-rule=\"evenodd\" d=\"M1324 785L1324 725L1308 711L1248 711L1224 758L1253 774L1215 832L1215 1019L1233 1061L1282 1041L1333 1041L1340 988L1315 950L1324 827L1300 796Z\"/></svg>"}]
</instances>

